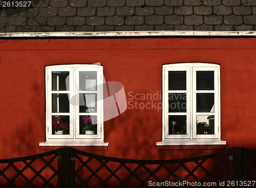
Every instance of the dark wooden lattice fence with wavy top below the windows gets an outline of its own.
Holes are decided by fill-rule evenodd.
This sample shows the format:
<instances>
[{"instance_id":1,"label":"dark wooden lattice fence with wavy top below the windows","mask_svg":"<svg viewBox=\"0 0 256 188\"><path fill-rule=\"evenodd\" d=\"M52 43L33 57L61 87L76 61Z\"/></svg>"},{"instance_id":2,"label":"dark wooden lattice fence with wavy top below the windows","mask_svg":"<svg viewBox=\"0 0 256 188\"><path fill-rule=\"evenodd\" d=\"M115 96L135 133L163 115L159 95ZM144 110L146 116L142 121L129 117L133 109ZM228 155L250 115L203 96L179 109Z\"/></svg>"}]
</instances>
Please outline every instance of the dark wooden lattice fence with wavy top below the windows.
<instances>
[{"instance_id":1,"label":"dark wooden lattice fence with wavy top below the windows","mask_svg":"<svg viewBox=\"0 0 256 188\"><path fill-rule=\"evenodd\" d=\"M175 160L113 158L65 147L0 159L0 187L221 187L255 181L255 172L256 151L242 147Z\"/></svg>"}]
</instances>

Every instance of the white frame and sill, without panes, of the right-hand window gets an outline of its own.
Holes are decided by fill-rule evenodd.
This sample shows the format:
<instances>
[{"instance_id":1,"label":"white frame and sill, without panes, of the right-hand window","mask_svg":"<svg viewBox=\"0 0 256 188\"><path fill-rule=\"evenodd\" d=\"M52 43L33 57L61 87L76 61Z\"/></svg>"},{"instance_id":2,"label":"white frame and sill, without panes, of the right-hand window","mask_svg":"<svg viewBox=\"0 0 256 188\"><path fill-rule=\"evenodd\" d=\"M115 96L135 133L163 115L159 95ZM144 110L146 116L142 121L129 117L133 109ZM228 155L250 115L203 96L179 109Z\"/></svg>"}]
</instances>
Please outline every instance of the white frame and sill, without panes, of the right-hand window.
<instances>
[{"instance_id":1,"label":"white frame and sill, without panes, of the right-hand window","mask_svg":"<svg viewBox=\"0 0 256 188\"><path fill-rule=\"evenodd\" d=\"M163 65L162 67L162 142L157 145L225 145L225 141L221 141L221 124L220 124L220 65L210 63L175 63ZM186 70L186 90L168 90L168 71L169 70ZM215 134L214 135L196 135L196 115L212 114L196 112L196 71L197 70L214 70L215 71ZM188 77L189 76L189 77ZM187 95L187 111L186 113L168 113L168 93L183 93ZM208 90L203 91L209 92ZM210 91L212 93L212 91ZM188 97L189 96L189 97ZM168 135L168 115L187 115L187 135ZM190 122L190 123L189 123ZM191 124L192 122L192 124Z\"/></svg>"}]
</instances>

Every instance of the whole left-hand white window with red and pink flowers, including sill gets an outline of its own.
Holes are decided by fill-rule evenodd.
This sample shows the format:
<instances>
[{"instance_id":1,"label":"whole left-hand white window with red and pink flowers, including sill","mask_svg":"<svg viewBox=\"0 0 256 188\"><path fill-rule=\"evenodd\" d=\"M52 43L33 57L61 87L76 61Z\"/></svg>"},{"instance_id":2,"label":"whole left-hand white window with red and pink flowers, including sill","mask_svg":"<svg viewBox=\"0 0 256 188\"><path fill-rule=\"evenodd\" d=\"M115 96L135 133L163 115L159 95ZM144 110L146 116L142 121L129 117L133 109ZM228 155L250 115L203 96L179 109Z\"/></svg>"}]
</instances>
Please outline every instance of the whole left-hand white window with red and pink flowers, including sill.
<instances>
[{"instance_id":1,"label":"whole left-hand white window with red and pink flowers, including sill","mask_svg":"<svg viewBox=\"0 0 256 188\"><path fill-rule=\"evenodd\" d=\"M108 146L103 136L102 66L46 67L46 142L40 145Z\"/></svg>"}]
</instances>

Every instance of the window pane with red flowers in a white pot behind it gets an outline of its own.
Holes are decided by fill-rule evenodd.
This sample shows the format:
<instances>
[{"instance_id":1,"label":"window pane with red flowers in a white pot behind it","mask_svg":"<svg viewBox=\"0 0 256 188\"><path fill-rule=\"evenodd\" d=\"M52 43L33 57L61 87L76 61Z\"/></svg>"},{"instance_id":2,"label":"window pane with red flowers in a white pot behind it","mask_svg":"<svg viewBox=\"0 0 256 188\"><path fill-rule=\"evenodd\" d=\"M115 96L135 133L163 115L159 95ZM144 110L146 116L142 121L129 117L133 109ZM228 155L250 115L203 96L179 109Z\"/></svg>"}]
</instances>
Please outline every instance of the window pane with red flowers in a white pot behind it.
<instances>
[{"instance_id":1,"label":"window pane with red flowers in a white pot behind it","mask_svg":"<svg viewBox=\"0 0 256 188\"><path fill-rule=\"evenodd\" d=\"M69 135L69 116L52 116L52 135Z\"/></svg>"}]
</instances>

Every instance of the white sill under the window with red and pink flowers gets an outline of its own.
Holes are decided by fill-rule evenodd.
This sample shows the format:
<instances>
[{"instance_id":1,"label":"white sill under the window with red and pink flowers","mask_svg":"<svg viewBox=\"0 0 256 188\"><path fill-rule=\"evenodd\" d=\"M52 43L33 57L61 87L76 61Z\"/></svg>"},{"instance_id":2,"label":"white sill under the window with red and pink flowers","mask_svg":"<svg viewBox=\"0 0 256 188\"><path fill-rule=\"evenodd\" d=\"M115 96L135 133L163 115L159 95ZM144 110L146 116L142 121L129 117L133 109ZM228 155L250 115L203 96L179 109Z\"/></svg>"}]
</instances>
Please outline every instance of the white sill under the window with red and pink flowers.
<instances>
[{"instance_id":1,"label":"white sill under the window with red and pink flowers","mask_svg":"<svg viewBox=\"0 0 256 188\"><path fill-rule=\"evenodd\" d=\"M109 143L104 143L102 140L98 139L52 139L39 143L39 146L109 146Z\"/></svg>"}]
</instances>

